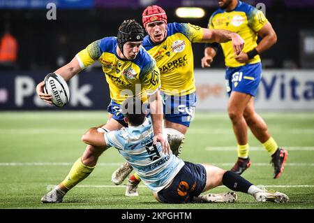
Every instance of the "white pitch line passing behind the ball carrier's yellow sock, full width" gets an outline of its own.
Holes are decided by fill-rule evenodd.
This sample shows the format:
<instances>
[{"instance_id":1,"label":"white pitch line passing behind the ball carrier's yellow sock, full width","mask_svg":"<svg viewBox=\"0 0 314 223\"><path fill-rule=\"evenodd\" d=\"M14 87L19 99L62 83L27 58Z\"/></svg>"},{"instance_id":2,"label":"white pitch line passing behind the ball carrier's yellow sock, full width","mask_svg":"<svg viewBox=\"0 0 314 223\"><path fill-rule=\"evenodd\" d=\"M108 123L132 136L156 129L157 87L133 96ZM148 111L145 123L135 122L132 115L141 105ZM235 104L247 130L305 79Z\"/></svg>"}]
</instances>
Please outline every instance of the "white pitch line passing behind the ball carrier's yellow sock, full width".
<instances>
[{"instance_id":1,"label":"white pitch line passing behind the ball carrier's yellow sock, full width","mask_svg":"<svg viewBox=\"0 0 314 223\"><path fill-rule=\"evenodd\" d=\"M99 163L97 166L120 166L122 163ZM216 166L233 166L234 163L211 163ZM269 166L269 163L253 163L254 166ZM10 162L0 163L0 166L72 166L69 162ZM286 163L285 166L314 166L314 163Z\"/></svg>"}]
</instances>

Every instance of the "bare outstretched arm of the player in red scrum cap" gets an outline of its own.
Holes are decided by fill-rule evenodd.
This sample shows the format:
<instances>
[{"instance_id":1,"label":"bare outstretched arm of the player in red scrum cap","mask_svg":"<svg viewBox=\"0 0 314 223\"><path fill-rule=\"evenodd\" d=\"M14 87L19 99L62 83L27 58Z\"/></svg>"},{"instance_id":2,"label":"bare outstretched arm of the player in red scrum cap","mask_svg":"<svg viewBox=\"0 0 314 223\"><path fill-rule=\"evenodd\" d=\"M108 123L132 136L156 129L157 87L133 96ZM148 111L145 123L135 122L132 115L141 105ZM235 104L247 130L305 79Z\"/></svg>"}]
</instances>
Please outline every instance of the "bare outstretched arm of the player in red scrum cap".
<instances>
[{"instance_id":1,"label":"bare outstretched arm of the player in red scrum cap","mask_svg":"<svg viewBox=\"0 0 314 223\"><path fill-rule=\"evenodd\" d=\"M232 31L204 28L203 31L202 42L204 43L225 43L232 41L233 50L236 55L239 55L244 48L244 40L239 34L233 33Z\"/></svg>"}]
</instances>

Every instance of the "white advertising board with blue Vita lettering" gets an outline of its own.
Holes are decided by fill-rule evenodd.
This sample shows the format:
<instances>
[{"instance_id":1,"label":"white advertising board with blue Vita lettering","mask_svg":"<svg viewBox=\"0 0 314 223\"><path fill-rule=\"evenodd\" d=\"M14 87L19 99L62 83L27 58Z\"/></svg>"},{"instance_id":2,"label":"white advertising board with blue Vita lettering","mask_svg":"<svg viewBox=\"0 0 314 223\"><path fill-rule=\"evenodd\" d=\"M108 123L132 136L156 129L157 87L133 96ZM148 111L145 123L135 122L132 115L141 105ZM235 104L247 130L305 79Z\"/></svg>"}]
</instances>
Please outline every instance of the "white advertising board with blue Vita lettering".
<instances>
[{"instance_id":1,"label":"white advertising board with blue Vita lettering","mask_svg":"<svg viewBox=\"0 0 314 223\"><path fill-rule=\"evenodd\" d=\"M225 71L195 70L196 110L226 110ZM262 110L314 110L314 71L264 70L255 98Z\"/></svg>"}]
</instances>

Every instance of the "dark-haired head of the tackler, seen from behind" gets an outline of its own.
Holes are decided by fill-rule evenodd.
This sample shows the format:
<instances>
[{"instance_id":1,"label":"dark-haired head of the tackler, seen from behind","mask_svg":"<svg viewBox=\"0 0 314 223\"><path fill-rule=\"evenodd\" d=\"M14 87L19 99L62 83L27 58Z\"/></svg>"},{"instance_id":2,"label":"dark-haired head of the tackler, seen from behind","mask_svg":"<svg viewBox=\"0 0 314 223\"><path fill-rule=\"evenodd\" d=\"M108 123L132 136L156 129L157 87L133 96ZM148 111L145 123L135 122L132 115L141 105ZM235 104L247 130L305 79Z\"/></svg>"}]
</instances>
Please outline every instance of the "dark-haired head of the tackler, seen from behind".
<instances>
[{"instance_id":1,"label":"dark-haired head of the tackler, seen from behind","mask_svg":"<svg viewBox=\"0 0 314 223\"><path fill-rule=\"evenodd\" d=\"M145 120L146 104L143 104L138 97L130 97L126 99L121 106L122 114L128 118L128 122L133 126L142 124Z\"/></svg>"}]
</instances>

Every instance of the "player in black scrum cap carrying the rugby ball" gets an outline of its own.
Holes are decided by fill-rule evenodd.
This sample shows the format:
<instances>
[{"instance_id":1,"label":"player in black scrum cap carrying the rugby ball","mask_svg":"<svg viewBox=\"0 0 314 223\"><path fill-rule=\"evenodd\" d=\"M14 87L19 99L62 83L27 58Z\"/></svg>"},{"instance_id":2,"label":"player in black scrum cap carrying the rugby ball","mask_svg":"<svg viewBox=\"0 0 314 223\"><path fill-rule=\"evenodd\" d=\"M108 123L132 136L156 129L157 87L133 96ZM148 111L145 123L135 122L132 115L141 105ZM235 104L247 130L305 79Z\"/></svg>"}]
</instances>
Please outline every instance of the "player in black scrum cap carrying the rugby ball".
<instances>
[{"instance_id":1,"label":"player in black scrum cap carrying the rugby ball","mask_svg":"<svg viewBox=\"0 0 314 223\"><path fill-rule=\"evenodd\" d=\"M154 129L154 143L161 143L165 153L170 152L167 141L163 138L162 101L159 93L160 73L155 60L142 48L144 30L135 20L126 20L119 27L116 37L105 37L95 41L84 50L77 53L73 60L61 67L55 73L61 75L66 81L82 71L85 67L98 60L103 66L105 78L110 87L111 103L108 106L110 113L106 124L98 127L99 131L112 131L127 126L124 115L121 114L121 103L130 96L138 96L147 101ZM45 83L40 82L36 91L40 99L51 103L51 95L43 93ZM62 202L63 196L79 183L87 178L94 170L98 157L107 148L98 147L94 138L87 131L82 136L83 141L89 141L89 145L82 157L75 161L66 178L43 198L43 203Z\"/></svg>"}]
</instances>

